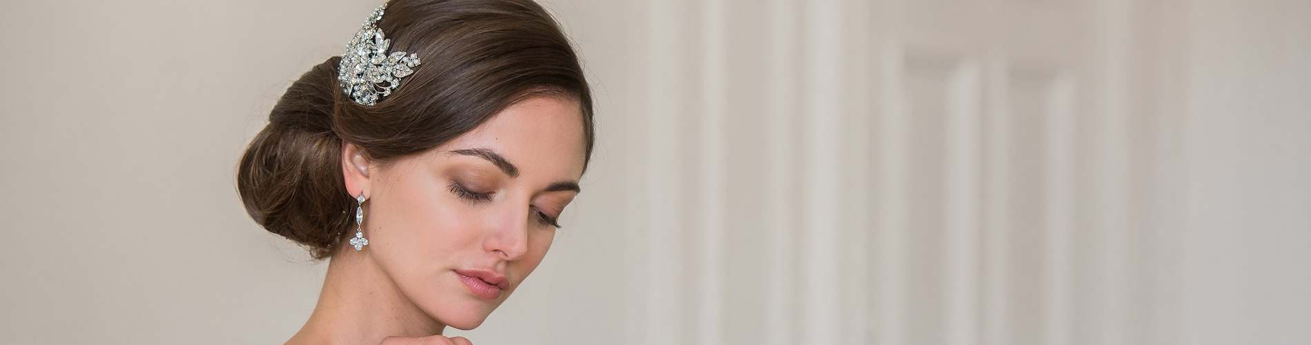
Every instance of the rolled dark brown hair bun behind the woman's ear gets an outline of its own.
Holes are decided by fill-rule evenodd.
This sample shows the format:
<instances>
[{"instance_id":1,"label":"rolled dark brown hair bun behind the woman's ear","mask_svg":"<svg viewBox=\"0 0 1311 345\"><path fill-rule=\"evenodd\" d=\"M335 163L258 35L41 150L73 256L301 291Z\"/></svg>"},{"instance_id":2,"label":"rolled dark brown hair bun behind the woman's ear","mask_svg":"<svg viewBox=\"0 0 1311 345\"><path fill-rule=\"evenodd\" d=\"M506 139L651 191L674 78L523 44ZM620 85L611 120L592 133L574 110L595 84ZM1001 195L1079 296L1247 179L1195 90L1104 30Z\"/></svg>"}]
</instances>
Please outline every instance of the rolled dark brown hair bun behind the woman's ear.
<instances>
[{"instance_id":1,"label":"rolled dark brown hair bun behind the woman's ear","mask_svg":"<svg viewBox=\"0 0 1311 345\"><path fill-rule=\"evenodd\" d=\"M250 218L307 247L315 258L329 256L351 226L342 140L333 130L338 59L315 66L287 88L237 167L237 192Z\"/></svg>"}]
</instances>

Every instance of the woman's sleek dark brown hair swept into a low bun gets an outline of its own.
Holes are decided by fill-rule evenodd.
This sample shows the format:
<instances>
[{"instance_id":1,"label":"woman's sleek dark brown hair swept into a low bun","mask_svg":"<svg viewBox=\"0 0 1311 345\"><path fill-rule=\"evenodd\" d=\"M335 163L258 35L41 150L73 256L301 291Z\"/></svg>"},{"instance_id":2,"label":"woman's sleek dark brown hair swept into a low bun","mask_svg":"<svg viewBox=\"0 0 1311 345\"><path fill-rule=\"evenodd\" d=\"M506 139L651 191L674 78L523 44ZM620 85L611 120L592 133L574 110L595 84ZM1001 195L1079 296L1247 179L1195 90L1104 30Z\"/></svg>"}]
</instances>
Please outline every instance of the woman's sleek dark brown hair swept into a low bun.
<instances>
[{"instance_id":1,"label":"woman's sleek dark brown hair swept into a low bun","mask_svg":"<svg viewBox=\"0 0 1311 345\"><path fill-rule=\"evenodd\" d=\"M354 220L342 143L387 164L440 146L532 97L579 102L586 168L594 140L591 93L569 39L540 5L395 0L378 28L392 39L389 51L418 54L422 64L374 106L342 92L337 56L287 88L237 167L241 202L265 230L304 245L315 258L329 257Z\"/></svg>"}]
</instances>

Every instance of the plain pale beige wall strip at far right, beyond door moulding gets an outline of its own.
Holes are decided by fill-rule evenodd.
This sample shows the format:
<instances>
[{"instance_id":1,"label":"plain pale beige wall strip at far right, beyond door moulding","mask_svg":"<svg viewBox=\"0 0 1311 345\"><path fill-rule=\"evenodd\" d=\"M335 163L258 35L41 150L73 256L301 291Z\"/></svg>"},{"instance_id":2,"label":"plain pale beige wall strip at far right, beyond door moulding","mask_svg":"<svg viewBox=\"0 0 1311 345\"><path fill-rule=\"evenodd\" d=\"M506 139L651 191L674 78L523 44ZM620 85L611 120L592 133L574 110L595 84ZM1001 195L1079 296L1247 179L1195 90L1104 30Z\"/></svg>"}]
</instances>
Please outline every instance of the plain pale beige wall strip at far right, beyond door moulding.
<instances>
[{"instance_id":1,"label":"plain pale beige wall strip at far right, beyond door moulding","mask_svg":"<svg viewBox=\"0 0 1311 345\"><path fill-rule=\"evenodd\" d=\"M1192 7L1183 344L1311 341L1311 3Z\"/></svg>"}]
</instances>

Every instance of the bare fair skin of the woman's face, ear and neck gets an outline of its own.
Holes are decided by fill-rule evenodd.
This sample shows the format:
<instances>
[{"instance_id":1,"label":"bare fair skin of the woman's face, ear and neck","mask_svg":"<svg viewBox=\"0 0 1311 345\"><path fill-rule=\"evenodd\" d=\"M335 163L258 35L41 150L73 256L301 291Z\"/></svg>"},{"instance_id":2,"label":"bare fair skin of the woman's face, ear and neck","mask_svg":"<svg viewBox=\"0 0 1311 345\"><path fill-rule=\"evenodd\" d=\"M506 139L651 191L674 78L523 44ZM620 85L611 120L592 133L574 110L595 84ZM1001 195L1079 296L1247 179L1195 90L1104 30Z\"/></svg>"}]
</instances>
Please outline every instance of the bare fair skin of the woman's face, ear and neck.
<instances>
[{"instance_id":1,"label":"bare fair skin of the woman's face, ear and neck","mask_svg":"<svg viewBox=\"0 0 1311 345\"><path fill-rule=\"evenodd\" d=\"M471 344L442 331L482 324L545 257L578 194L583 140L577 101L538 97L385 165L343 144L370 244L333 253L313 314L287 344ZM503 274L509 287L479 298L455 273L468 269Z\"/></svg>"}]
</instances>

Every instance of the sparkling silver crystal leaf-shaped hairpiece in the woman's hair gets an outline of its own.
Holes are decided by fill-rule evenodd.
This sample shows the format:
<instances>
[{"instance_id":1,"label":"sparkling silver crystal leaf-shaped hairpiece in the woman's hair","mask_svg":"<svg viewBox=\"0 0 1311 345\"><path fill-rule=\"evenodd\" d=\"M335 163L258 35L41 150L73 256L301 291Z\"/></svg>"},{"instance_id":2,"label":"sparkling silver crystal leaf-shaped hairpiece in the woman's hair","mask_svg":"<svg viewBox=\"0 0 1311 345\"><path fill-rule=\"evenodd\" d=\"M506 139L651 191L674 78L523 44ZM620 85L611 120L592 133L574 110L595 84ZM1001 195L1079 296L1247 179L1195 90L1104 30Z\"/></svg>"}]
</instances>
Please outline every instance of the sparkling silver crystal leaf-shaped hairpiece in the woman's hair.
<instances>
[{"instance_id":1,"label":"sparkling silver crystal leaf-shaped hairpiece in the woman's hair","mask_svg":"<svg viewBox=\"0 0 1311 345\"><path fill-rule=\"evenodd\" d=\"M413 73L412 68L418 66L418 55L405 56L404 51L387 54L392 41L378 29L383 9L387 9L387 4L374 9L355 38L346 45L346 54L341 55L341 64L337 66L337 81L346 96L359 105L375 105L378 98L392 94L392 89L401 84L401 77Z\"/></svg>"}]
</instances>

